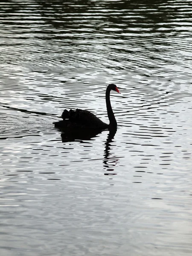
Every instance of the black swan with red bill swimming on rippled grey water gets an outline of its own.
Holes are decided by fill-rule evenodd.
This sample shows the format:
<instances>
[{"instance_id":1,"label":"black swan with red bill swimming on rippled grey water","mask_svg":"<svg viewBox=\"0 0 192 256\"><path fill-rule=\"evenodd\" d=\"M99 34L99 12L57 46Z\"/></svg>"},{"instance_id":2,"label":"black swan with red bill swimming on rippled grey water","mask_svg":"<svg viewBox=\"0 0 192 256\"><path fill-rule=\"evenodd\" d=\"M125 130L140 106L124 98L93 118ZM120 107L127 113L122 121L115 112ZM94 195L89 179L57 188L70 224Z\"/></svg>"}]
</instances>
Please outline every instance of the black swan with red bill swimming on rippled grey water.
<instances>
[{"instance_id":1,"label":"black swan with red bill swimming on rippled grey water","mask_svg":"<svg viewBox=\"0 0 192 256\"><path fill-rule=\"evenodd\" d=\"M108 111L109 124L102 122L97 116L87 110L76 109L67 111L66 109L63 111L61 118L63 120L54 122L55 127L61 128L65 131L74 131L74 130L102 130L102 129L113 129L115 130L117 127L116 119L113 114L113 110L111 108L110 102L110 91L114 90L117 93L120 93L115 84L109 84L106 93L105 100Z\"/></svg>"}]
</instances>

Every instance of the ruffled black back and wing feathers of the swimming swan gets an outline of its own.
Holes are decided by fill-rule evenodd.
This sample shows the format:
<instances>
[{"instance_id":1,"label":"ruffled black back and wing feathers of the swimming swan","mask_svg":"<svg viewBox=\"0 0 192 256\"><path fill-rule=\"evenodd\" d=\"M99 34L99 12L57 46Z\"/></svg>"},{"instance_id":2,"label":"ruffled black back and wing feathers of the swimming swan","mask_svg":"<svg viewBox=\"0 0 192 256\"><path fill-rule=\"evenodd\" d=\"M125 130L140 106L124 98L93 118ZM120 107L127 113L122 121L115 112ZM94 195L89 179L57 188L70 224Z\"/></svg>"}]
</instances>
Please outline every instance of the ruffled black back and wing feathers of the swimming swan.
<instances>
[{"instance_id":1,"label":"ruffled black back and wing feathers of the swimming swan","mask_svg":"<svg viewBox=\"0 0 192 256\"><path fill-rule=\"evenodd\" d=\"M70 109L70 111L67 111L65 109L61 117L63 120L69 119L70 122L76 123L79 125L84 125L87 128L94 128L94 129L108 128L108 125L102 122L102 120L100 120L93 113L87 110L79 109L79 108L77 108L76 110Z\"/></svg>"}]
</instances>

